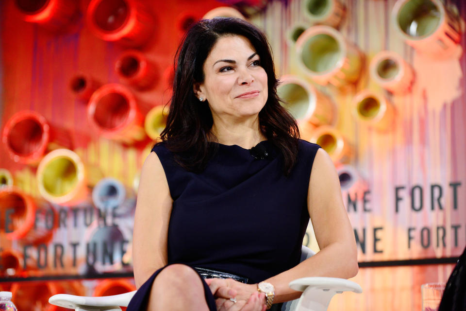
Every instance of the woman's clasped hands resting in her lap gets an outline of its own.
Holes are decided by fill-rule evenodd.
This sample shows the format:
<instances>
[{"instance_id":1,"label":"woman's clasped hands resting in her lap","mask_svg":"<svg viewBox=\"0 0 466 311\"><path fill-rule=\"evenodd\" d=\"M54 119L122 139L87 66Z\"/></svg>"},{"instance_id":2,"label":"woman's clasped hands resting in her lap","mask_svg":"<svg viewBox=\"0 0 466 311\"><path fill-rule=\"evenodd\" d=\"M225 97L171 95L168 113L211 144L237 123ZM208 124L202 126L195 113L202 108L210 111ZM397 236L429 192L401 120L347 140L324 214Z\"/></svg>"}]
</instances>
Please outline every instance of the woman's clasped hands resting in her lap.
<instances>
[{"instance_id":1,"label":"woman's clasped hands resting in her lap","mask_svg":"<svg viewBox=\"0 0 466 311\"><path fill-rule=\"evenodd\" d=\"M217 311L265 311L266 295L257 291L257 284L245 284L232 278L206 278L216 297ZM235 298L236 302L230 300Z\"/></svg>"}]
</instances>

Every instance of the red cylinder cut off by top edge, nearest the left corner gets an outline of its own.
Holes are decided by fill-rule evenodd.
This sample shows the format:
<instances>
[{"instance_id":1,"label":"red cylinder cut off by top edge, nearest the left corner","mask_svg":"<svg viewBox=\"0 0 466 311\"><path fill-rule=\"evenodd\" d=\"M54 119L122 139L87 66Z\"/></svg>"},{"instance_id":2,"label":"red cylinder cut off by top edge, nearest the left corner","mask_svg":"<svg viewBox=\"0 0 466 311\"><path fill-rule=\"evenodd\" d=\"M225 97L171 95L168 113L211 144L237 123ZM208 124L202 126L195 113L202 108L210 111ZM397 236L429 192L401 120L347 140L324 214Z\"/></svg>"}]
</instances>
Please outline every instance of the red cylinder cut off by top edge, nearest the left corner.
<instances>
[{"instance_id":1,"label":"red cylinder cut off by top edge, nearest the left corner","mask_svg":"<svg viewBox=\"0 0 466 311\"><path fill-rule=\"evenodd\" d=\"M75 0L15 0L22 19L52 31L62 30L78 11Z\"/></svg>"}]
</instances>

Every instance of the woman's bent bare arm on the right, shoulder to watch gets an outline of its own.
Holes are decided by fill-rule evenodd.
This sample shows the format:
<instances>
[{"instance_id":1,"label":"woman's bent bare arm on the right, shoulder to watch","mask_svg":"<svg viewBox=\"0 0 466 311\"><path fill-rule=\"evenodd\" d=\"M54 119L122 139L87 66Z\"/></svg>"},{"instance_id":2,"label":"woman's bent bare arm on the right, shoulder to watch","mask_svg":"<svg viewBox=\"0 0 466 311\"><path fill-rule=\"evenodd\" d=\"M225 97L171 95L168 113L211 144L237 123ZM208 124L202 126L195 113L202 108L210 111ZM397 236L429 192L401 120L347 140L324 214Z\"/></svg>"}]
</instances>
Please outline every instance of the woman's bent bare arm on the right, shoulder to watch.
<instances>
[{"instance_id":1,"label":"woman's bent bare arm on the right, shoulder to watch","mask_svg":"<svg viewBox=\"0 0 466 311\"><path fill-rule=\"evenodd\" d=\"M350 278L358 273L357 250L343 205L340 182L330 156L317 151L309 179L308 209L320 251L296 267L266 281L275 286L274 302L296 299L288 283L307 276Z\"/></svg>"}]
</instances>

